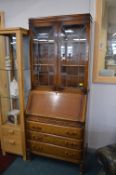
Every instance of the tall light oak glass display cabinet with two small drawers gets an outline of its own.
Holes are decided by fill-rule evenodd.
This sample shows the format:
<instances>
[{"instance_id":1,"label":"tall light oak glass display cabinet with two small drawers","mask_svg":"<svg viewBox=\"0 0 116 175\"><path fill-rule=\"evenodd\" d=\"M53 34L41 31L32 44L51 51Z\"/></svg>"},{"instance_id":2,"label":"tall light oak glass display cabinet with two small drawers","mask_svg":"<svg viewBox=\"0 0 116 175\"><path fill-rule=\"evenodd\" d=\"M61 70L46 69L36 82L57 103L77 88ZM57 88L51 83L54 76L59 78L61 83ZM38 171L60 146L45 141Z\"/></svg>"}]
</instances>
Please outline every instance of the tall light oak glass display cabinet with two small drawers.
<instances>
[{"instance_id":1,"label":"tall light oak glass display cabinet with two small drawers","mask_svg":"<svg viewBox=\"0 0 116 175\"><path fill-rule=\"evenodd\" d=\"M0 48L4 52L0 76L5 77L0 85L1 148L3 154L10 152L26 159L24 111L29 86L24 77L30 69L29 50L25 51L29 49L28 30L1 29L0 36L5 44L4 50Z\"/></svg>"}]
</instances>

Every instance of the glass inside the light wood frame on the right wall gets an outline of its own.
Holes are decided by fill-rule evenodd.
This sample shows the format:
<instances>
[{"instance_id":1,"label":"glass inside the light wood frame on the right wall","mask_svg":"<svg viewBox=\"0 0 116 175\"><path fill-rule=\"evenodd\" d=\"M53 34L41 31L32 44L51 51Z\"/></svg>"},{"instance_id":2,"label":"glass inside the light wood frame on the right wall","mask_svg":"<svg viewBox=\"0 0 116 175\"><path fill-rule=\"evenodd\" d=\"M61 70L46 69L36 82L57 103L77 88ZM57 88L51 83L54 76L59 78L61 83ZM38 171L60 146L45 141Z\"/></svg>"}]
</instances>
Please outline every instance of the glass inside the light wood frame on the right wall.
<instances>
[{"instance_id":1,"label":"glass inside the light wood frame on the right wall","mask_svg":"<svg viewBox=\"0 0 116 175\"><path fill-rule=\"evenodd\" d=\"M100 76L116 76L116 0L103 0Z\"/></svg>"}]
</instances>

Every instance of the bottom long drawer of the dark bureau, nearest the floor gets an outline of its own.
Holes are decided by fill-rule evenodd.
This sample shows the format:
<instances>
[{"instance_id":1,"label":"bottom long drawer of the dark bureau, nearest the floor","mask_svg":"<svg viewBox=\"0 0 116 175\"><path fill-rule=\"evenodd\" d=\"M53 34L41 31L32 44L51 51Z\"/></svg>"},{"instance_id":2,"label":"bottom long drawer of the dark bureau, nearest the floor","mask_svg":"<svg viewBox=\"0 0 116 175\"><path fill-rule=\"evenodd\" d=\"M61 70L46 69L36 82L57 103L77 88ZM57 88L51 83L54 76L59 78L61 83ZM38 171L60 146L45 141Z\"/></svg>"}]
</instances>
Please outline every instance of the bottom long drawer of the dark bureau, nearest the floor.
<instances>
[{"instance_id":1,"label":"bottom long drawer of the dark bureau, nearest the floor","mask_svg":"<svg viewBox=\"0 0 116 175\"><path fill-rule=\"evenodd\" d=\"M79 163L82 159L81 150L68 149L52 144L34 141L28 141L28 145L30 147L30 151L36 154L46 155L75 163Z\"/></svg>"}]
</instances>

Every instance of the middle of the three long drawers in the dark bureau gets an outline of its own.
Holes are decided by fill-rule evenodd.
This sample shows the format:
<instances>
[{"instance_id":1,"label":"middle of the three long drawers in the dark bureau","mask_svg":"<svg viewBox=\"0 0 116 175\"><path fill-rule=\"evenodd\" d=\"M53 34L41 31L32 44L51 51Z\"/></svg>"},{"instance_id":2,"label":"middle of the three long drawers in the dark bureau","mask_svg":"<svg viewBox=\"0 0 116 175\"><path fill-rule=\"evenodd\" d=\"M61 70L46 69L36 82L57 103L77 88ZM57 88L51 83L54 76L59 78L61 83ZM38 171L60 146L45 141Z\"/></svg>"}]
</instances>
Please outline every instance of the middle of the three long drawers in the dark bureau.
<instances>
[{"instance_id":1,"label":"middle of the three long drawers in the dark bureau","mask_svg":"<svg viewBox=\"0 0 116 175\"><path fill-rule=\"evenodd\" d=\"M27 139L44 143L50 143L72 149L82 149L83 146L82 140L68 139L66 137L45 134L36 131L28 131Z\"/></svg>"}]
</instances>

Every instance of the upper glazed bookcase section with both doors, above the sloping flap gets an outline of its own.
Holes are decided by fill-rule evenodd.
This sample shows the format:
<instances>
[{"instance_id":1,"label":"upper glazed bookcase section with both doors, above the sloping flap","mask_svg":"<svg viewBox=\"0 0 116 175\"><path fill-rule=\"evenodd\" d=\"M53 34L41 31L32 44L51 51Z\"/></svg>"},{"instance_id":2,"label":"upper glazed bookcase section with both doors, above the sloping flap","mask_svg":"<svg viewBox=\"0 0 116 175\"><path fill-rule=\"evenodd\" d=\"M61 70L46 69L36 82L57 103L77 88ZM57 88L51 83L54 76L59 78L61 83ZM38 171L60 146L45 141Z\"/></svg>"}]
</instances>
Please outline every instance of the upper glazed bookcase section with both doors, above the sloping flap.
<instances>
[{"instance_id":1,"label":"upper glazed bookcase section with both doors, above the sloping flap","mask_svg":"<svg viewBox=\"0 0 116 175\"><path fill-rule=\"evenodd\" d=\"M89 15L30 19L32 88L86 89Z\"/></svg>"}]
</instances>

